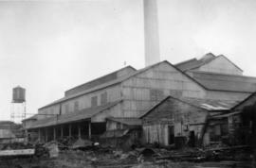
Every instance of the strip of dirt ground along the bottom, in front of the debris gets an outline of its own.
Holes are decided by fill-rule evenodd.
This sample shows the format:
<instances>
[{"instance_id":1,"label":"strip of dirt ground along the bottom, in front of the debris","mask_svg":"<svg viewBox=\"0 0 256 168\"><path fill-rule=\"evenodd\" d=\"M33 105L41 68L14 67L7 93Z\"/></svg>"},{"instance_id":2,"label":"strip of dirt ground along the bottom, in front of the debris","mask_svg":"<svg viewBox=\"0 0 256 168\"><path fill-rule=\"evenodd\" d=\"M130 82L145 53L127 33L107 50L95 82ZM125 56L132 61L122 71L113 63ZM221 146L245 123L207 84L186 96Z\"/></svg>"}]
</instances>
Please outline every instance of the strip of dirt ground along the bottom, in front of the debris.
<instances>
[{"instance_id":1,"label":"strip of dirt ground along the bottom, in front of the debris","mask_svg":"<svg viewBox=\"0 0 256 168\"><path fill-rule=\"evenodd\" d=\"M0 168L254 168L251 161L174 162L137 160L135 155L117 152L62 151L57 158L1 159Z\"/></svg>"}]
</instances>

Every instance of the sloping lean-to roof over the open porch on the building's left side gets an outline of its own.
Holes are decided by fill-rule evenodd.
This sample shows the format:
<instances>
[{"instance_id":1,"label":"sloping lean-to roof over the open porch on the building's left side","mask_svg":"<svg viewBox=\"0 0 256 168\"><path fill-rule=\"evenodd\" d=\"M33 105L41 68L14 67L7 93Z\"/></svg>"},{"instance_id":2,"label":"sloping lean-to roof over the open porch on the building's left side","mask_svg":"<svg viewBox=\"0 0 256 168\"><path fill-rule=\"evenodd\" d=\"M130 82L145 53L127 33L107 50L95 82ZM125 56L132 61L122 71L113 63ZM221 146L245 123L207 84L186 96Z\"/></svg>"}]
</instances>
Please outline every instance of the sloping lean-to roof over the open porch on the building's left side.
<instances>
[{"instance_id":1,"label":"sloping lean-to roof over the open porch on the building's left side","mask_svg":"<svg viewBox=\"0 0 256 168\"><path fill-rule=\"evenodd\" d=\"M56 126L56 125L61 125L61 124L66 124L66 123L78 122L78 121L85 120L85 119L90 119L91 117L100 113L101 111L103 111L105 109L109 109L113 106L116 106L117 104L119 104L119 102L120 102L120 100L116 101L116 102L108 103L108 104L105 104L105 105L99 106L99 107L82 109L78 112L70 112L67 114L38 120L38 121L34 122L32 124L32 126L30 126L28 128L31 129L31 128L37 128L37 127Z\"/></svg>"}]
</instances>

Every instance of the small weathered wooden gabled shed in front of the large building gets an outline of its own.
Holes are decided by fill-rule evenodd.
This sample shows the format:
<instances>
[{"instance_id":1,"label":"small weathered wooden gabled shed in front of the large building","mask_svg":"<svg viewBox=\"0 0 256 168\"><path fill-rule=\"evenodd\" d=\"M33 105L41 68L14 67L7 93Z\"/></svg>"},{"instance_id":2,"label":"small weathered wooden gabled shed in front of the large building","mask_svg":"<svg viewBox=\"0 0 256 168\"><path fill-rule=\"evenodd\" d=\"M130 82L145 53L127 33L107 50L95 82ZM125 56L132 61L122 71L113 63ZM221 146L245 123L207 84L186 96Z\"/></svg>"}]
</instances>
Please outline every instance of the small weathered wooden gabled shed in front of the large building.
<instances>
[{"instance_id":1,"label":"small weathered wooden gabled shed in front of the large building","mask_svg":"<svg viewBox=\"0 0 256 168\"><path fill-rule=\"evenodd\" d=\"M145 143L163 146L210 143L211 115L228 112L237 102L168 96L141 116Z\"/></svg>"}]
</instances>

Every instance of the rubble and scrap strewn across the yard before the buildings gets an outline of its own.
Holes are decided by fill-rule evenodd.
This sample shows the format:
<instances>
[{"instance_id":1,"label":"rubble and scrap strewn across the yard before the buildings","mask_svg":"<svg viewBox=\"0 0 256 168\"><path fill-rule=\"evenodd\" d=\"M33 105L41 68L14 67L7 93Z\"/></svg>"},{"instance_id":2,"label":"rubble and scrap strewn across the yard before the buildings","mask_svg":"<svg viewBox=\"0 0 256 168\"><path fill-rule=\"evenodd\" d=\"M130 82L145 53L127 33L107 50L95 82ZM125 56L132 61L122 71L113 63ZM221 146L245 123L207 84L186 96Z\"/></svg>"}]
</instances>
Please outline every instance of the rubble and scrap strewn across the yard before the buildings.
<instances>
[{"instance_id":1,"label":"rubble and scrap strewn across the yard before the buildings","mask_svg":"<svg viewBox=\"0 0 256 168\"><path fill-rule=\"evenodd\" d=\"M49 142L36 147L38 156L46 153L49 158L57 158L60 152L83 152L82 156L92 164L136 164L139 162L155 162L160 160L172 161L220 161L220 160L251 160L252 149L249 146L227 146L222 143L214 143L205 148L165 149L156 147L136 148L130 152L123 152L99 143L79 139L66 145L60 142ZM39 152L41 151L41 152Z\"/></svg>"}]
</instances>

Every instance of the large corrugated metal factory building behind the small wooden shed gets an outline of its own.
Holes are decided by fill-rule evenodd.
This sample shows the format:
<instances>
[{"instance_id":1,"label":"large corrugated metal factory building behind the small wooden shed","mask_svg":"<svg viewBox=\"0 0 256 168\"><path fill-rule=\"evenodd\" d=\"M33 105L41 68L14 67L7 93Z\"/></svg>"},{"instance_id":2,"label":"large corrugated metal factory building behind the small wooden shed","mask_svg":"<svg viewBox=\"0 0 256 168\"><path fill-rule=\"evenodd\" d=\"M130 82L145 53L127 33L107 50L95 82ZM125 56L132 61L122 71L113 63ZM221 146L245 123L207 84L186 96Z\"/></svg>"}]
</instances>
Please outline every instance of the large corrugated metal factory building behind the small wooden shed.
<instances>
[{"instance_id":1,"label":"large corrugated metal factory building behind the small wooden shed","mask_svg":"<svg viewBox=\"0 0 256 168\"><path fill-rule=\"evenodd\" d=\"M193 120L199 114L187 119L194 121L193 125L202 125L210 110L230 109L255 91L256 78L243 76L243 71L224 56L207 54L176 65L164 60L141 70L127 66L72 88L64 92L63 98L38 109L38 115L24 124L28 131L37 133L41 142L68 136L99 141L103 134L114 135L113 130L125 132L141 126L141 117L168 96L196 104L195 109L203 110L198 118L202 120ZM177 109L186 113L191 108ZM178 125L173 126L174 136L180 135ZM194 134L200 137L199 132Z\"/></svg>"}]
</instances>

